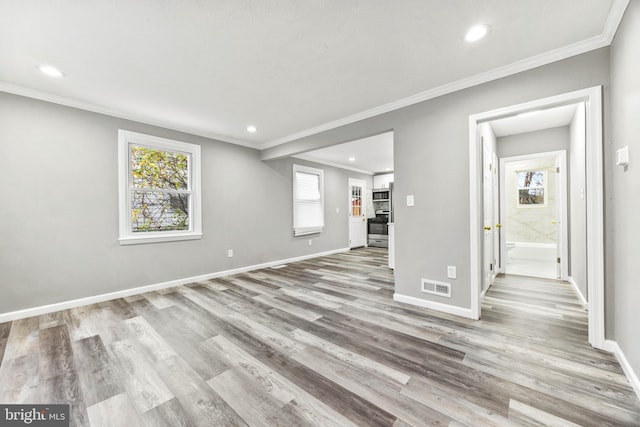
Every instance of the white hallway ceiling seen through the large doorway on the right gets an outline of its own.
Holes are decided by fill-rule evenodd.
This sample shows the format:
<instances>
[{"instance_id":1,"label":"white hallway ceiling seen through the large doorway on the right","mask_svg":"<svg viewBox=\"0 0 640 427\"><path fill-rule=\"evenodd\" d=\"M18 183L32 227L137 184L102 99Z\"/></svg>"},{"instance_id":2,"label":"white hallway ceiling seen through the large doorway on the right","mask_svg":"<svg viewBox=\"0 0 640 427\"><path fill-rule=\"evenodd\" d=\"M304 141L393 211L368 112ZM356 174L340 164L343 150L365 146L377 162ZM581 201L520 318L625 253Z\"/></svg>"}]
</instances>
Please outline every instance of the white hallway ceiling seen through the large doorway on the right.
<instances>
[{"instance_id":1,"label":"white hallway ceiling seen through the large doorway on the right","mask_svg":"<svg viewBox=\"0 0 640 427\"><path fill-rule=\"evenodd\" d=\"M537 110L490 122L497 138L568 126L576 113L577 104Z\"/></svg>"}]
</instances>

